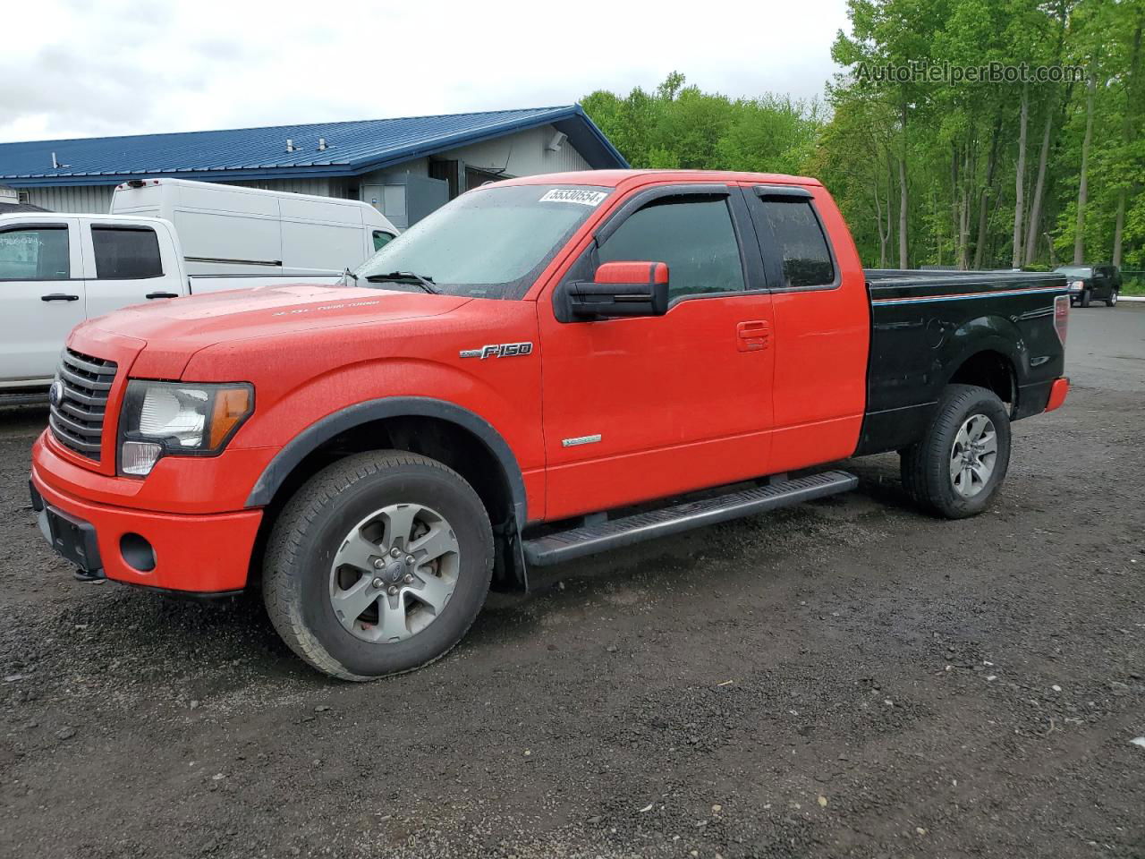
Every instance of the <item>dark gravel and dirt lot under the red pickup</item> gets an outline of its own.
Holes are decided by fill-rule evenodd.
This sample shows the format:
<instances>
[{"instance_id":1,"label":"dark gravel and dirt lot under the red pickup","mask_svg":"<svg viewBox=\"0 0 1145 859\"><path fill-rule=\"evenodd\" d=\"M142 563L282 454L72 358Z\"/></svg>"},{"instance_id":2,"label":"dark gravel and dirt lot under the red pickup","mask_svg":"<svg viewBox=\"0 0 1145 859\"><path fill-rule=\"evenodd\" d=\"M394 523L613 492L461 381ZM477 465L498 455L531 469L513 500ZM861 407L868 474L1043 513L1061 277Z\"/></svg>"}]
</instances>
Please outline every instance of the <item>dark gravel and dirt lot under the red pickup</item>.
<instances>
[{"instance_id":1,"label":"dark gravel and dirt lot under the red pickup","mask_svg":"<svg viewBox=\"0 0 1145 859\"><path fill-rule=\"evenodd\" d=\"M72 581L0 416L0 856L1143 857L1145 305L1003 497L859 491L559 568L426 670L329 681L258 600Z\"/></svg>"}]
</instances>

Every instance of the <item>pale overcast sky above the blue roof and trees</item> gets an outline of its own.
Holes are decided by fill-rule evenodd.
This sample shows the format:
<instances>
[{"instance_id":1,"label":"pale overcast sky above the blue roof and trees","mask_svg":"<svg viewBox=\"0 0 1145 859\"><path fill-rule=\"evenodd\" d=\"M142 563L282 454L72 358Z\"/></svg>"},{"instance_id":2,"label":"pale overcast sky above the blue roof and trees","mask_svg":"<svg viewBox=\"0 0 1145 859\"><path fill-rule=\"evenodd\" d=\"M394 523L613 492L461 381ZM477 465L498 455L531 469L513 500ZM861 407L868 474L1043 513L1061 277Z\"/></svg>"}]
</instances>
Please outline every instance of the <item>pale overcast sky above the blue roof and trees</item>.
<instances>
[{"instance_id":1,"label":"pale overcast sky above the blue roof and trees","mask_svg":"<svg viewBox=\"0 0 1145 859\"><path fill-rule=\"evenodd\" d=\"M0 141L569 104L673 69L810 98L846 25L844 0L10 2Z\"/></svg>"}]
</instances>

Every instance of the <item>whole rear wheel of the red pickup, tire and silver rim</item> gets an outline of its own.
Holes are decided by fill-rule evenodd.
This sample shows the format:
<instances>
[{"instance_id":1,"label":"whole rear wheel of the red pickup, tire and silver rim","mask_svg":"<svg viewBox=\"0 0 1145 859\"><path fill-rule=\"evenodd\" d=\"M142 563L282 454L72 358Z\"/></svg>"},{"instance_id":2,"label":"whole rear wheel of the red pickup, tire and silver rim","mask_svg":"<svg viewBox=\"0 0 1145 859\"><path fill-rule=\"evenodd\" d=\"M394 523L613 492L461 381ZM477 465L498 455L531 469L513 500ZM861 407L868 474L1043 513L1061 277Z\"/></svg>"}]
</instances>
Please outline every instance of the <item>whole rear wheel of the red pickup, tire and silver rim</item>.
<instances>
[{"instance_id":1,"label":"whole rear wheel of the red pickup, tire and silver rim","mask_svg":"<svg viewBox=\"0 0 1145 859\"><path fill-rule=\"evenodd\" d=\"M1010 416L997 395L948 385L923 439L902 451L902 484L917 504L947 519L981 513L1010 465Z\"/></svg>"}]
</instances>

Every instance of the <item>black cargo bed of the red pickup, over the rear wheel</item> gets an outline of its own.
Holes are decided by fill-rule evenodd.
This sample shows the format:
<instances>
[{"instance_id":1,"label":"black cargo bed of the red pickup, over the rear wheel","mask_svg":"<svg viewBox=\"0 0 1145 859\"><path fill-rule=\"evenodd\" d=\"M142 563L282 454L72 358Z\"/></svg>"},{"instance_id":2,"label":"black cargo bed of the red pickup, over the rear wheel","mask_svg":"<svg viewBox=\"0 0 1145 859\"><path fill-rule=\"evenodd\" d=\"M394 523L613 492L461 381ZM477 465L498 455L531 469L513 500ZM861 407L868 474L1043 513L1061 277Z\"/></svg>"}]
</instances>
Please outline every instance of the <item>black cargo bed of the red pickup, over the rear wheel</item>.
<instances>
[{"instance_id":1,"label":"black cargo bed of the red pickup, over the rear wheel","mask_svg":"<svg viewBox=\"0 0 1145 859\"><path fill-rule=\"evenodd\" d=\"M992 362L1013 419L1045 408L1063 373L1053 325L1057 273L863 269L871 306L867 416L858 454L921 438L968 360ZM986 352L984 353L984 345ZM981 353L981 354L979 354ZM929 360L924 360L929 357ZM947 375L955 372L953 378Z\"/></svg>"}]
</instances>

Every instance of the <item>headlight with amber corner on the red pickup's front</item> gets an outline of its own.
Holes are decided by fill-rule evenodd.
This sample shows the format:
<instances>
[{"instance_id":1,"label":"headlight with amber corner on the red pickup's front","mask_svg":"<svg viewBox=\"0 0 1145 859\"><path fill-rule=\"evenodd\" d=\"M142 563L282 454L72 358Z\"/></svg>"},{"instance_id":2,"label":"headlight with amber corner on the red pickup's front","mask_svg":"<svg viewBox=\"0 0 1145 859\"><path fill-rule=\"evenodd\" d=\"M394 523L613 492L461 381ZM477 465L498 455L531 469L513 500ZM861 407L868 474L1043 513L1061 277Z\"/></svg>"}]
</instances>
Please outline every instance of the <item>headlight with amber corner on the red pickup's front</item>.
<instances>
[{"instance_id":1,"label":"headlight with amber corner on the red pickup's front","mask_svg":"<svg viewBox=\"0 0 1145 859\"><path fill-rule=\"evenodd\" d=\"M254 410L246 384L127 383L119 416L119 473L147 476L161 456L214 456Z\"/></svg>"}]
</instances>

